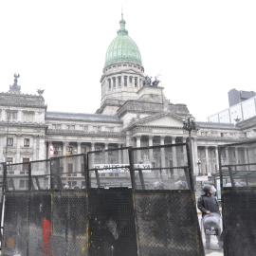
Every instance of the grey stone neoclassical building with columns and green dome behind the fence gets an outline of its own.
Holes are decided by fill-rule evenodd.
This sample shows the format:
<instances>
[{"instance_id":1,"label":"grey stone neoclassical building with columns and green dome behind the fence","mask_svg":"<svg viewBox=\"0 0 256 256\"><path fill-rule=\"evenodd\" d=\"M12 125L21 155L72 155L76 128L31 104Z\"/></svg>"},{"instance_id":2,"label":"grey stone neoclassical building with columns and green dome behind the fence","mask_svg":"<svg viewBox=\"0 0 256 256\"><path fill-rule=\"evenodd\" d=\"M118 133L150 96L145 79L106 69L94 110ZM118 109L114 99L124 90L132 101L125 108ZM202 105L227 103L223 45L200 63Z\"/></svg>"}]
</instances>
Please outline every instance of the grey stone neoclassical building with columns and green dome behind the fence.
<instances>
[{"instance_id":1,"label":"grey stone neoclassical building with columns and green dome behind the fence","mask_svg":"<svg viewBox=\"0 0 256 256\"><path fill-rule=\"evenodd\" d=\"M18 78L15 74L9 91L7 88L8 92L0 93L0 162L46 159L49 144L54 145L55 155L66 155L66 150L80 154L179 143L189 136L182 121L190 114L187 105L168 101L161 84L144 75L139 49L128 35L122 16L118 35L106 51L101 106L95 114L49 112L43 91L27 95L18 85ZM196 121L196 125L198 129L192 131L196 174L199 168L203 174L218 172L218 145L256 137L256 117L236 124ZM181 156L176 157L177 154ZM165 161L175 165L184 161L182 154L174 149ZM230 148L222 155L224 161L229 155L237 155L239 163L256 158L256 152L246 148L234 152ZM154 155L148 157L154 161ZM68 168L72 172L72 165Z\"/></svg>"}]
</instances>

